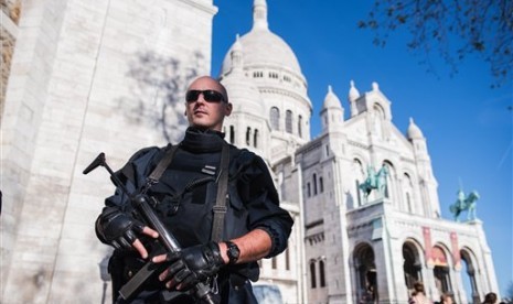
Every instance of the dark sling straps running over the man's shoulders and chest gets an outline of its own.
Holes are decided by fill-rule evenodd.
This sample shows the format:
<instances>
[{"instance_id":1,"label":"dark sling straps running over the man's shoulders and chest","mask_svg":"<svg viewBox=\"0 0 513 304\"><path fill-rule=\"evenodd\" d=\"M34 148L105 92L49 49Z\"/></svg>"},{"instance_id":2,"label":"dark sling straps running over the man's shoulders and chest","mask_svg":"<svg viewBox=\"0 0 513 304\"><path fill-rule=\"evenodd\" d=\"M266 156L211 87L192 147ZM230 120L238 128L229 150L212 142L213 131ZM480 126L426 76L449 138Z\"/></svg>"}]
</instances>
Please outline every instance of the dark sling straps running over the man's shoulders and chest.
<instances>
[{"instance_id":1,"label":"dark sling straps running over the man's shoulders and chest","mask_svg":"<svg viewBox=\"0 0 513 304\"><path fill-rule=\"evenodd\" d=\"M157 164L157 167L148 176L148 184L154 185L159 182L160 177L164 173L165 169L171 164L174 153L178 150L178 144L172 145L165 151L164 156ZM228 200L228 166L229 166L229 146L226 142L223 142L221 150L221 167L217 174L217 197L213 207L214 219L212 224L211 240L220 241L223 234L224 216L226 214L226 202Z\"/></svg>"}]
</instances>

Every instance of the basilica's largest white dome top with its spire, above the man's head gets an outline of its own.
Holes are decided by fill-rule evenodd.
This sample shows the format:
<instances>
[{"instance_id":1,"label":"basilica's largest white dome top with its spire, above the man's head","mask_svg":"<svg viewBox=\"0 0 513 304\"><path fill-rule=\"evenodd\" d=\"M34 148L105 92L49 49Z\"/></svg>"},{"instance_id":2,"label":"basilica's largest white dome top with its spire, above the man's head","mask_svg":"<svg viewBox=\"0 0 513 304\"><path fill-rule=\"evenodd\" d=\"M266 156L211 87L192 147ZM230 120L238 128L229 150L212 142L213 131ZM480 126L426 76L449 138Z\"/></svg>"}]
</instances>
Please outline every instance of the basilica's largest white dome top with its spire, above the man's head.
<instances>
[{"instance_id":1,"label":"basilica's largest white dome top with its spire, above the man's head","mask_svg":"<svg viewBox=\"0 0 513 304\"><path fill-rule=\"evenodd\" d=\"M255 1L253 9L253 29L239 39L243 45L244 65L252 67L275 67L301 74L301 67L290 46L267 25L267 4ZM221 75L232 69L232 47L224 57Z\"/></svg>"}]
</instances>

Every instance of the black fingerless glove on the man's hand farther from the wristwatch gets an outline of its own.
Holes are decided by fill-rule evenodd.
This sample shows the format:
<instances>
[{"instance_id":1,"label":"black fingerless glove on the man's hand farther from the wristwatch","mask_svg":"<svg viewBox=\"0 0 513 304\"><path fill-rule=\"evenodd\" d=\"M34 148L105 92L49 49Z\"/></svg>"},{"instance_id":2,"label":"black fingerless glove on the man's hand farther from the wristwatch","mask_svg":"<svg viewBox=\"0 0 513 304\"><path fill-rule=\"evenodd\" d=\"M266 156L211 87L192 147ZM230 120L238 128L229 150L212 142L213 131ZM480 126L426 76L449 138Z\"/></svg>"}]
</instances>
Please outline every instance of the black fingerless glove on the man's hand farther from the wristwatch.
<instances>
[{"instance_id":1,"label":"black fingerless glove on the man's hand farther from the wristwatch","mask_svg":"<svg viewBox=\"0 0 513 304\"><path fill-rule=\"evenodd\" d=\"M145 225L118 209L107 209L96 219L98 238L116 249L131 249Z\"/></svg>"}]
</instances>

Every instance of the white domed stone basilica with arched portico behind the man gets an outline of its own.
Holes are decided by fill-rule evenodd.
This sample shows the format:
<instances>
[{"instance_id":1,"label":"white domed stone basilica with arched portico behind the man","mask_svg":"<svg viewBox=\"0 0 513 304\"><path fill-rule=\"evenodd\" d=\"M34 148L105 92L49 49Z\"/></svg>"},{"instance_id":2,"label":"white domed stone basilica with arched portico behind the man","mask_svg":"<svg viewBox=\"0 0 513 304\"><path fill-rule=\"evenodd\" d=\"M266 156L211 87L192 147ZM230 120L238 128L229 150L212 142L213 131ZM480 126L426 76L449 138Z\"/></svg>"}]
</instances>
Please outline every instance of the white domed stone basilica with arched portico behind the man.
<instances>
[{"instance_id":1,"label":"white domed stone basilica with arched portico behind the man","mask_svg":"<svg viewBox=\"0 0 513 304\"><path fill-rule=\"evenodd\" d=\"M289 249L261 262L259 283L278 285L286 303L407 303L416 282L430 298L449 293L457 303L496 290L481 222L440 218L414 120L403 134L378 84L360 94L351 82L349 119L328 87L322 133L310 140L307 76L271 32L265 0L253 19L218 75L234 104L226 138L267 160L296 220Z\"/></svg>"}]
</instances>

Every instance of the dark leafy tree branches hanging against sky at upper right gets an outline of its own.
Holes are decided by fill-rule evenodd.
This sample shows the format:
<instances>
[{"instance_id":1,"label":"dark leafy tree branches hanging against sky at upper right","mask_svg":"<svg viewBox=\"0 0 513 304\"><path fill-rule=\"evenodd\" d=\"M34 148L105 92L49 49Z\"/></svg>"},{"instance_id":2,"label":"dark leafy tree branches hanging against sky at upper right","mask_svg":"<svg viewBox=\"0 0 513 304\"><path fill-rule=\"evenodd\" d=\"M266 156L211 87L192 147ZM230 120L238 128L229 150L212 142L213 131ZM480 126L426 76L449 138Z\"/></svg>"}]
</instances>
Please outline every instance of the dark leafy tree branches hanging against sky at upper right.
<instances>
[{"instance_id":1,"label":"dark leafy tree branches hanging against sky at upper right","mask_svg":"<svg viewBox=\"0 0 513 304\"><path fill-rule=\"evenodd\" d=\"M374 31L373 43L382 47L392 32L406 28L407 47L426 57L428 69L434 50L450 66L451 75L468 55L477 54L490 65L492 87L512 80L511 0L376 0L359 28Z\"/></svg>"}]
</instances>

